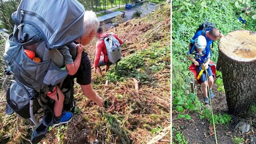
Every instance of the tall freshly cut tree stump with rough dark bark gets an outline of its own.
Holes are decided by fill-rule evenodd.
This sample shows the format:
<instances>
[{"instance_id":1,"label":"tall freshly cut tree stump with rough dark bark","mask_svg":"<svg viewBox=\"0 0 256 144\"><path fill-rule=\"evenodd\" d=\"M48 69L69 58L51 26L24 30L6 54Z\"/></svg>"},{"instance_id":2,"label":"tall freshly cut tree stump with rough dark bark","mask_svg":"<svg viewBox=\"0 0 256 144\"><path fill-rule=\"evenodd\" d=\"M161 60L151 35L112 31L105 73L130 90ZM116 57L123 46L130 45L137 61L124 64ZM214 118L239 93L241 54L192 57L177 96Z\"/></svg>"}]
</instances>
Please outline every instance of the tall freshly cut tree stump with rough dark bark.
<instances>
[{"instance_id":1,"label":"tall freshly cut tree stump with rough dark bark","mask_svg":"<svg viewBox=\"0 0 256 144\"><path fill-rule=\"evenodd\" d=\"M228 112L242 114L256 102L256 33L236 30L219 41Z\"/></svg>"}]
</instances>

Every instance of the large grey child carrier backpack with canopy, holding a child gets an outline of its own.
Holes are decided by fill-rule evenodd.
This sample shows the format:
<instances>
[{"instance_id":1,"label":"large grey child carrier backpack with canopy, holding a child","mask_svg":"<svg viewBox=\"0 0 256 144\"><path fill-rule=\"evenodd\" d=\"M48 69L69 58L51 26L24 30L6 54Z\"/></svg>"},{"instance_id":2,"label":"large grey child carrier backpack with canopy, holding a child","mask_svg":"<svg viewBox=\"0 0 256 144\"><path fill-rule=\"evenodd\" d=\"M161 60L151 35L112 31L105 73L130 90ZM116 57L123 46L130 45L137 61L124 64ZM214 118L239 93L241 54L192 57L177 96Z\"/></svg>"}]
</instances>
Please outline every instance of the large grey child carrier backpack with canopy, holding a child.
<instances>
[{"instance_id":1,"label":"large grey child carrier backpack with canopy, holding a child","mask_svg":"<svg viewBox=\"0 0 256 144\"><path fill-rule=\"evenodd\" d=\"M84 13L77 0L22 0L13 13L15 26L4 52L6 73L12 74L13 80L8 89L4 87L7 105L23 118L30 117L30 100L40 100L42 105L48 90L68 75L58 49L74 44L84 34ZM25 49L33 51L41 62L30 59ZM72 57L76 56L74 49ZM35 107L37 104L34 102L34 111L40 108Z\"/></svg>"}]
</instances>

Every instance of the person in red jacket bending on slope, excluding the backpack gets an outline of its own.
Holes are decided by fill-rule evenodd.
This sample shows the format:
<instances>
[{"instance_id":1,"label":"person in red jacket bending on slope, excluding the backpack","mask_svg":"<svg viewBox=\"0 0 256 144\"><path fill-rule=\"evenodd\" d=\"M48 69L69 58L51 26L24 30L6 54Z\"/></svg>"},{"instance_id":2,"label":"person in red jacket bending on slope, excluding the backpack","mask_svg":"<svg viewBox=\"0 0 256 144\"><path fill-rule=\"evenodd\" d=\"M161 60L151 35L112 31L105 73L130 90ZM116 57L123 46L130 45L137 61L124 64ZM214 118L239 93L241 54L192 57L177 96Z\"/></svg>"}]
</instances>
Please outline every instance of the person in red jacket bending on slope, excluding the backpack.
<instances>
[{"instance_id":1,"label":"person in red jacket bending on slope, excluding the backpack","mask_svg":"<svg viewBox=\"0 0 256 144\"><path fill-rule=\"evenodd\" d=\"M118 41L119 44L121 45L123 43L123 41L113 32L111 32L111 35L114 36ZM100 66L105 66L105 71L107 72L110 65L112 64L109 60L108 60L108 56L107 56L107 49L106 49L106 45L104 43L104 37L107 36L107 34L105 34L103 32L103 28L99 27L98 28L98 32L97 32L97 37L99 38L99 40L96 42L96 53L95 53L95 58L94 58L94 72L98 72L98 74L100 74L100 76L103 77L102 73L101 73L101 68Z\"/></svg>"}]
</instances>

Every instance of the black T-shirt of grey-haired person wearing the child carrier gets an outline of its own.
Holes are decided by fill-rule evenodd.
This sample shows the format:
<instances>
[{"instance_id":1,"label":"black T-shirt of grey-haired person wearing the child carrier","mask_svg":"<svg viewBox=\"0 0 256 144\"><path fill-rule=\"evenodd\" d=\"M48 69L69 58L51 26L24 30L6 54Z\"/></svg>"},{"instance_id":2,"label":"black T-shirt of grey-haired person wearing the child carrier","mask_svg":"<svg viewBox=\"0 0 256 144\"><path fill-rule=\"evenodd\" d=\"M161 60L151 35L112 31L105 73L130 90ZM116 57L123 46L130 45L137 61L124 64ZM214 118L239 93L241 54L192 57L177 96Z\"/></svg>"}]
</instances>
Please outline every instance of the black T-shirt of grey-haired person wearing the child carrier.
<instances>
[{"instance_id":1,"label":"black T-shirt of grey-haired person wearing the child carrier","mask_svg":"<svg viewBox=\"0 0 256 144\"><path fill-rule=\"evenodd\" d=\"M83 51L80 66L73 76L67 75L63 84L69 83L69 81L74 80L80 85L89 85L91 83L91 61L87 54ZM69 89L69 85L64 86Z\"/></svg>"}]
</instances>

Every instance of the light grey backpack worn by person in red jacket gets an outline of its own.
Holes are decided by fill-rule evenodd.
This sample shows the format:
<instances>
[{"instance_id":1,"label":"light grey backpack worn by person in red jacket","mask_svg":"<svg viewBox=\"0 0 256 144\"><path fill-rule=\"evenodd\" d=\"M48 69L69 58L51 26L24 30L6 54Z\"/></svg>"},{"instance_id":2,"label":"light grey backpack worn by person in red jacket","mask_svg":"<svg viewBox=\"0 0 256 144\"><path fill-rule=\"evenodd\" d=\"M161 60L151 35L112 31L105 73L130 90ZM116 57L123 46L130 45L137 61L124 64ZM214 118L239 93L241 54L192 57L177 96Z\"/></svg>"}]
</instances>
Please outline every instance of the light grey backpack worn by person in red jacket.
<instances>
[{"instance_id":1,"label":"light grey backpack worn by person in red jacket","mask_svg":"<svg viewBox=\"0 0 256 144\"><path fill-rule=\"evenodd\" d=\"M102 40L104 40L106 45L107 53L105 53L105 55L108 56L108 60L112 64L117 64L117 62L122 59L121 45L119 41L114 36L112 36L111 33L107 34L107 36L105 36L104 39L102 38Z\"/></svg>"}]
</instances>

